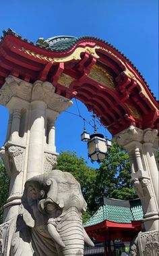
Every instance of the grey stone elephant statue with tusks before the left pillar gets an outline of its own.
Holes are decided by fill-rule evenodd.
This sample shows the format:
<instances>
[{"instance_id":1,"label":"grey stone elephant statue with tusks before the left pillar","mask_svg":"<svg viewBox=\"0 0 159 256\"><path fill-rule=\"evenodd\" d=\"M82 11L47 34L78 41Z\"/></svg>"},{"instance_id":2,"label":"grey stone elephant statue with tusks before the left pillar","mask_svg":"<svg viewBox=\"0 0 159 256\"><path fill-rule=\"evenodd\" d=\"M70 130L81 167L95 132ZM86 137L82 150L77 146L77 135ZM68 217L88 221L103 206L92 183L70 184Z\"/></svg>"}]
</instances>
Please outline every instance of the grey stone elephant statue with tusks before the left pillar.
<instances>
[{"instance_id":1,"label":"grey stone elephant statue with tusks before the left pillar","mask_svg":"<svg viewBox=\"0 0 159 256\"><path fill-rule=\"evenodd\" d=\"M84 242L94 246L82 226L86 205L79 183L67 172L53 170L31 178L25 184L9 256L84 255Z\"/></svg>"}]
</instances>

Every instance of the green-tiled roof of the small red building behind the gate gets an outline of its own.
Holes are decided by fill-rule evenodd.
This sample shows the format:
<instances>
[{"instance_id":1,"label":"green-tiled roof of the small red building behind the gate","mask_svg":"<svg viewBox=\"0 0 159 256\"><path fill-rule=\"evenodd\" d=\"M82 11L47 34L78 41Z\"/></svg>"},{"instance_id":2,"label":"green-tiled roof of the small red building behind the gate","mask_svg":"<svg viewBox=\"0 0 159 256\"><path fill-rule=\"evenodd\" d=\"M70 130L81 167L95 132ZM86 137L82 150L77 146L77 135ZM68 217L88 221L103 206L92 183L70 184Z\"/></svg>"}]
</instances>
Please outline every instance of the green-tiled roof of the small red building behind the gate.
<instances>
[{"instance_id":1,"label":"green-tiled roof of the small red building behind the gate","mask_svg":"<svg viewBox=\"0 0 159 256\"><path fill-rule=\"evenodd\" d=\"M143 211L139 199L117 200L104 199L104 205L100 206L90 220L84 224L84 228L100 224L105 220L119 224L131 224L133 221L143 219Z\"/></svg>"}]
</instances>

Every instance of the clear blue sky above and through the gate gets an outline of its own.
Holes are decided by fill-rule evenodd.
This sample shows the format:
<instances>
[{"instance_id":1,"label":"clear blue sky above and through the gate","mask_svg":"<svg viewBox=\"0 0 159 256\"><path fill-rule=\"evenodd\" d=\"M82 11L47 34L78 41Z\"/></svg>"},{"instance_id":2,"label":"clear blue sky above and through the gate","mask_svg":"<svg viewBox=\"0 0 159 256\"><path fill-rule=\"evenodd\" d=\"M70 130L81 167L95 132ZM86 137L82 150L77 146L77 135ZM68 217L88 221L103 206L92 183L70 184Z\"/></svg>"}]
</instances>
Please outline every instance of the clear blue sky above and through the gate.
<instances>
[{"instance_id":1,"label":"clear blue sky above and through the gate","mask_svg":"<svg viewBox=\"0 0 159 256\"><path fill-rule=\"evenodd\" d=\"M108 41L133 62L158 97L158 0L1 1L0 34L9 27L34 42L57 35L89 35ZM78 105L89 119L86 107ZM76 104L69 111L78 113ZM0 146L7 118L7 109L0 107ZM88 159L87 145L80 141L82 129L80 118L62 113L57 120L57 152L75 150ZM89 127L88 131L92 132Z\"/></svg>"}]
</instances>

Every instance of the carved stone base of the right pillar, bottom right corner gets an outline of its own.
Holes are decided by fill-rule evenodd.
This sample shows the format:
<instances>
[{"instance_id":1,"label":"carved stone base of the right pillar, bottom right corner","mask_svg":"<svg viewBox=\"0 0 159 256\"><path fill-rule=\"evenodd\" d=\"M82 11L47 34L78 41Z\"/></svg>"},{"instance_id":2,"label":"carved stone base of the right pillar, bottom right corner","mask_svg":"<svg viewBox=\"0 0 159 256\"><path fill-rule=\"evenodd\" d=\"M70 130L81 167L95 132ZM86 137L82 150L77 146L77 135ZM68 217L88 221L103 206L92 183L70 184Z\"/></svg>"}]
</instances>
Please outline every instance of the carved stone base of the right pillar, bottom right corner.
<instances>
[{"instance_id":1,"label":"carved stone base of the right pillar, bottom right corner","mask_svg":"<svg viewBox=\"0 0 159 256\"><path fill-rule=\"evenodd\" d=\"M139 232L130 245L130 256L158 256L158 230Z\"/></svg>"}]
</instances>

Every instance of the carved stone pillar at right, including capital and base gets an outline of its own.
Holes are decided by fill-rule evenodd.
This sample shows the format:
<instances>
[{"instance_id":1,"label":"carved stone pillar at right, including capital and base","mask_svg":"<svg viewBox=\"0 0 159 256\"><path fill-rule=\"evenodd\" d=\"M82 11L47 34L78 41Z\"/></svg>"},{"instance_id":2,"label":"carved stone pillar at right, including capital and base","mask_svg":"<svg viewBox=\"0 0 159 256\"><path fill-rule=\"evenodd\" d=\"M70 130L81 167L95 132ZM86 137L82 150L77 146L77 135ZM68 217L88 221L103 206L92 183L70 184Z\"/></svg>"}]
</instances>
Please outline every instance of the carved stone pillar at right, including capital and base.
<instances>
[{"instance_id":1,"label":"carved stone pillar at right, including capital and base","mask_svg":"<svg viewBox=\"0 0 159 256\"><path fill-rule=\"evenodd\" d=\"M154 155L157 130L130 126L114 137L129 153L131 177L144 211L145 232L139 232L130 255L159 255L158 243L158 167Z\"/></svg>"}]
</instances>

